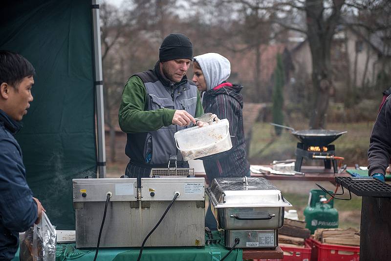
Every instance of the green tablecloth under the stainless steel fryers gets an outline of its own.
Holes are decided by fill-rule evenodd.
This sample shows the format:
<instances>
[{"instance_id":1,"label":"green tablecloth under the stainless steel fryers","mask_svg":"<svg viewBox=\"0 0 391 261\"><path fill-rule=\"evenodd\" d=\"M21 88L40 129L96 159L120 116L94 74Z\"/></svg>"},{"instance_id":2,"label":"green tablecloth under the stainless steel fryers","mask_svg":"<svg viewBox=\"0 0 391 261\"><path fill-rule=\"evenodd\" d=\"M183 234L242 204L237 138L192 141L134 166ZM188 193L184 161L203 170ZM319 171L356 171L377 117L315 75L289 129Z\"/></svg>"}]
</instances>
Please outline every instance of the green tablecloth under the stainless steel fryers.
<instances>
[{"instance_id":1,"label":"green tablecloth under the stainless steel fryers","mask_svg":"<svg viewBox=\"0 0 391 261\"><path fill-rule=\"evenodd\" d=\"M220 239L217 232L213 232L214 239ZM228 249L221 240L219 244L202 247L146 247L143 250L141 261L218 261ZM95 256L94 248L76 249L75 243L57 244L56 261L77 260L91 261ZM97 261L135 261L140 252L139 248L100 248ZM240 248L234 249L225 259L226 261L241 261L243 252ZM13 261L19 261L19 250Z\"/></svg>"}]
</instances>

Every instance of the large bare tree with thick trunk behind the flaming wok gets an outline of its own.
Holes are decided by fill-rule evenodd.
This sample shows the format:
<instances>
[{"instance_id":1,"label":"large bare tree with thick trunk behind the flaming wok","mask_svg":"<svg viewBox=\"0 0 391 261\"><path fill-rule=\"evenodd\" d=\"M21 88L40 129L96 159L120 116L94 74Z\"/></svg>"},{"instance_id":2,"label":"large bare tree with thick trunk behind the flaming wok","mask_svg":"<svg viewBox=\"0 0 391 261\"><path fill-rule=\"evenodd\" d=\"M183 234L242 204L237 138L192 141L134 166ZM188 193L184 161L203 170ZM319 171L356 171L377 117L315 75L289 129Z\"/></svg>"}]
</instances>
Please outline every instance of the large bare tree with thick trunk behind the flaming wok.
<instances>
[{"instance_id":1,"label":"large bare tree with thick trunk behind the flaming wok","mask_svg":"<svg viewBox=\"0 0 391 261\"><path fill-rule=\"evenodd\" d=\"M230 1L233 3L233 1ZM345 0L239 0L239 3L261 10L273 10L271 22L289 30L299 31L307 37L312 56L312 81L315 97L310 128L324 128L329 92L332 88L330 48ZM292 13L304 12L306 24L297 24Z\"/></svg>"}]
</instances>

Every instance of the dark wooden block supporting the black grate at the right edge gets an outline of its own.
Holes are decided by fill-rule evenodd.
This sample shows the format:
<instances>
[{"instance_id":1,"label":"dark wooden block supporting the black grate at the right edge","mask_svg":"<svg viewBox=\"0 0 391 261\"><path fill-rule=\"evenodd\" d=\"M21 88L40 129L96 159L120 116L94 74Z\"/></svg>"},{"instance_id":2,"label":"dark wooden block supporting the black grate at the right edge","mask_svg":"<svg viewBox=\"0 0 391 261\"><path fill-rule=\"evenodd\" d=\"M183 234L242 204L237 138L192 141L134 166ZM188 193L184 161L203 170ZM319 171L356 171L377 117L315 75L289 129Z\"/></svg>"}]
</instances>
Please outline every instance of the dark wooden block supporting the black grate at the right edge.
<instances>
[{"instance_id":1,"label":"dark wooden block supporting the black grate at the right edge","mask_svg":"<svg viewBox=\"0 0 391 261\"><path fill-rule=\"evenodd\" d=\"M363 196L360 260L391 260L391 198Z\"/></svg>"}]
</instances>

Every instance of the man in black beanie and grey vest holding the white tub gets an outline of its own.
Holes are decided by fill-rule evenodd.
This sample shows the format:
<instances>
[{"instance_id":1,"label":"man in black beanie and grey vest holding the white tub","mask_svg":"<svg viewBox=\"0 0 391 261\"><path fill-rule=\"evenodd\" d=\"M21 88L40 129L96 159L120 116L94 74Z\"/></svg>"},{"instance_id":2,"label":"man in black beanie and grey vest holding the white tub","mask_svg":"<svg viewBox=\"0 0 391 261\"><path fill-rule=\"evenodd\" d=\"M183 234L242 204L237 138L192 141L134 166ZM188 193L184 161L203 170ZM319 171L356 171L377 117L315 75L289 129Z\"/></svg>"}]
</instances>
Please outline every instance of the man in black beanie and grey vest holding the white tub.
<instances>
[{"instance_id":1,"label":"man in black beanie and grey vest holding the white tub","mask_svg":"<svg viewBox=\"0 0 391 261\"><path fill-rule=\"evenodd\" d=\"M123 89L118 120L127 133L125 174L137 177L138 187L152 168L167 168L170 156L177 156L178 168L189 167L176 149L174 133L195 124L194 117L203 113L197 87L186 77L192 59L190 39L170 34L155 67L132 75Z\"/></svg>"}]
</instances>

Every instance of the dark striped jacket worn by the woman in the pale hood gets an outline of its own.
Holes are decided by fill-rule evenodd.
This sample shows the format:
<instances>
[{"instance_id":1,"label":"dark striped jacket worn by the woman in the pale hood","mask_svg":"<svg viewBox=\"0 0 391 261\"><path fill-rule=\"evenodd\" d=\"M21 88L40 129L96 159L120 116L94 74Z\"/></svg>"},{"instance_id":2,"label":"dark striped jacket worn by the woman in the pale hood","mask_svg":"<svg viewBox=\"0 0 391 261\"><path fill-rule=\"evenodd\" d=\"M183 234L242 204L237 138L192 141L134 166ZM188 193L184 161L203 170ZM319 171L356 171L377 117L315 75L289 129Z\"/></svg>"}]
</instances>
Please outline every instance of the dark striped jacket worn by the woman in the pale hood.
<instances>
[{"instance_id":1,"label":"dark striped jacket worn by the woman in the pale hood","mask_svg":"<svg viewBox=\"0 0 391 261\"><path fill-rule=\"evenodd\" d=\"M216 177L242 177L250 170L244 143L242 88L239 84L223 83L203 96L205 113L212 112L219 119L228 120L232 141L231 150L202 158L209 181Z\"/></svg>"}]
</instances>

